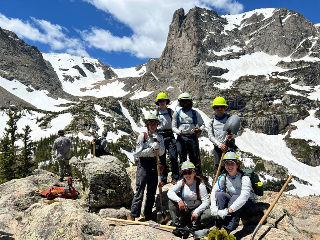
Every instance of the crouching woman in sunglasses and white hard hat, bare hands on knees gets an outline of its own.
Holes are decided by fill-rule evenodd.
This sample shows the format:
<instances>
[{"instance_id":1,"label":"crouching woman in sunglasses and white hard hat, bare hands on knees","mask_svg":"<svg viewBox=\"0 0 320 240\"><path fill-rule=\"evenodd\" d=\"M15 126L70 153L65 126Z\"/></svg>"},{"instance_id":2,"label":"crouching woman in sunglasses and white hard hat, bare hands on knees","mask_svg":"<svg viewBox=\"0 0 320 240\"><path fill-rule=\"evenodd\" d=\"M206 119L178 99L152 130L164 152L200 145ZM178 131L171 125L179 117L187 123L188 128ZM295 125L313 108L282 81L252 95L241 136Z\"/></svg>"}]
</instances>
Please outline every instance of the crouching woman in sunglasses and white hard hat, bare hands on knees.
<instances>
[{"instance_id":1,"label":"crouching woman in sunglasses and white hard hat, bare hands on knees","mask_svg":"<svg viewBox=\"0 0 320 240\"><path fill-rule=\"evenodd\" d=\"M169 191L169 212L172 224L179 228L203 229L214 217L210 214L210 201L207 189L200 177L196 176L197 168L189 161L181 166L183 179L179 180ZM180 196L177 193L180 192ZM174 235L188 238L189 233L174 230Z\"/></svg>"}]
</instances>

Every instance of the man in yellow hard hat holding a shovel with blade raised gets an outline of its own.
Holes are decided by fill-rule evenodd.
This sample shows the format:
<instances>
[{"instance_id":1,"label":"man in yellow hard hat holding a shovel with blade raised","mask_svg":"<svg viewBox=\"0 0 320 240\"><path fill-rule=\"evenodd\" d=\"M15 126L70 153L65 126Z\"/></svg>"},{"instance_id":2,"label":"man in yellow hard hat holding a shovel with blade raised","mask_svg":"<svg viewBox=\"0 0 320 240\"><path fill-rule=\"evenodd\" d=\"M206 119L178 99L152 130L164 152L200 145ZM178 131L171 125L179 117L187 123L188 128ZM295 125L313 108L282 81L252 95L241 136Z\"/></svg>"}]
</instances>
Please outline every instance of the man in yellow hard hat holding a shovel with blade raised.
<instances>
[{"instance_id":1,"label":"man in yellow hard hat holding a shovel with blade raised","mask_svg":"<svg viewBox=\"0 0 320 240\"><path fill-rule=\"evenodd\" d=\"M216 115L213 116L212 120L208 126L208 138L214 145L214 166L216 171L218 170L220 159L222 153L227 151L228 148L230 151L236 150L234 144L234 138L239 135L237 134L228 134L227 131L223 131L224 124L227 122L229 115L225 114L226 109L228 108L228 104L223 97L216 97L211 107L216 112ZM228 146L226 145L227 140L229 140ZM220 172L225 170L224 166L221 166Z\"/></svg>"}]
</instances>

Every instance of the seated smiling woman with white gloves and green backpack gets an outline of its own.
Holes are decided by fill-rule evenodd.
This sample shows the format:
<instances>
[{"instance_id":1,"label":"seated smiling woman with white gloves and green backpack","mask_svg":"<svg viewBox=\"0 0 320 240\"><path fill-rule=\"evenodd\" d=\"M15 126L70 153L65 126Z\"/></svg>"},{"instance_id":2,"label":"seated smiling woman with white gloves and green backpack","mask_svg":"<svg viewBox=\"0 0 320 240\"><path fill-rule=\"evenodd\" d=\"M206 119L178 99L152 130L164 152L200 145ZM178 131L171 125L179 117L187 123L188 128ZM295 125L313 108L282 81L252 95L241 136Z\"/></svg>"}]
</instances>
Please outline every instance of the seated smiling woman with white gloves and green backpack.
<instances>
[{"instance_id":1,"label":"seated smiling woman with white gloves and green backpack","mask_svg":"<svg viewBox=\"0 0 320 240\"><path fill-rule=\"evenodd\" d=\"M217 217L216 226L228 233L236 229L236 220L253 215L257 209L257 195L251 191L251 180L240 170L241 161L234 152L223 157L225 171L219 176L211 192L211 215ZM228 189L228 194L225 190Z\"/></svg>"}]
</instances>

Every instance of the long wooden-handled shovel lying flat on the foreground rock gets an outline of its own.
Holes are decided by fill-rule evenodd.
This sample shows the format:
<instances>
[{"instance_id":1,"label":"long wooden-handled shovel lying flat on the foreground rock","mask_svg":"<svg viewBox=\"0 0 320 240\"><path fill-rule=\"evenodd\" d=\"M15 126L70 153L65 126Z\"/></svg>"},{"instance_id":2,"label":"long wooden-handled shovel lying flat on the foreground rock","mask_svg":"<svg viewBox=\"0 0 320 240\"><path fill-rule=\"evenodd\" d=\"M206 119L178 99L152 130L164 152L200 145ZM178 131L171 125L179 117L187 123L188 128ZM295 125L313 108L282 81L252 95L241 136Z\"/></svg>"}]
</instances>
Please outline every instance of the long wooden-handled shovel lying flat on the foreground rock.
<instances>
[{"instance_id":1,"label":"long wooden-handled shovel lying flat on the foreground rock","mask_svg":"<svg viewBox=\"0 0 320 240\"><path fill-rule=\"evenodd\" d=\"M177 228L177 227L161 225L161 224L153 223L153 222L139 222L139 221L131 221L131 220L125 220L125 219L118 219L118 218L106 218L106 220L126 222L126 223L145 225L145 226L157 227L157 228L167 228L167 229L172 229L172 230L185 231L185 232L191 233L193 238L206 237L206 236L208 236L208 233L209 233L209 229L207 229L207 228L202 229L202 230L198 230L198 231L191 231L190 229L187 229L187 228Z\"/></svg>"}]
</instances>

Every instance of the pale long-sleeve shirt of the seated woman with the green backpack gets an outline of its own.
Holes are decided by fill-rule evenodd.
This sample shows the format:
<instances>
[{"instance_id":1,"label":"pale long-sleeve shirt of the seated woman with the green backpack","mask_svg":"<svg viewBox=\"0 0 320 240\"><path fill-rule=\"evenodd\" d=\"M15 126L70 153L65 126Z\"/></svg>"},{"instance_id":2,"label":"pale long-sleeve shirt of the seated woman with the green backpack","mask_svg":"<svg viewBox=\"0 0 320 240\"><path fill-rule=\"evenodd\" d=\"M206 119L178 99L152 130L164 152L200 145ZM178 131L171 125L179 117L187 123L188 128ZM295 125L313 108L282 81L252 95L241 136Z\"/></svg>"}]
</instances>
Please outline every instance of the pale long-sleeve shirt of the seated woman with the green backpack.
<instances>
[{"instance_id":1,"label":"pale long-sleeve shirt of the seated woman with the green backpack","mask_svg":"<svg viewBox=\"0 0 320 240\"><path fill-rule=\"evenodd\" d=\"M249 176L243 176L241 178L242 173L232 179L226 176L226 173L223 173L219 176L217 182L214 184L212 191L211 191L211 205L210 208L212 209L214 206L217 206L216 202L216 193L220 192L220 188L225 190L228 189L230 196L239 195L239 197L231 204L230 208L233 212L236 212L240 209L248 199L251 199L255 203L258 202L258 197L251 191L251 180ZM241 180L242 179L242 180ZM219 188L220 186L220 188Z\"/></svg>"}]
</instances>

